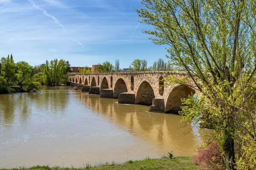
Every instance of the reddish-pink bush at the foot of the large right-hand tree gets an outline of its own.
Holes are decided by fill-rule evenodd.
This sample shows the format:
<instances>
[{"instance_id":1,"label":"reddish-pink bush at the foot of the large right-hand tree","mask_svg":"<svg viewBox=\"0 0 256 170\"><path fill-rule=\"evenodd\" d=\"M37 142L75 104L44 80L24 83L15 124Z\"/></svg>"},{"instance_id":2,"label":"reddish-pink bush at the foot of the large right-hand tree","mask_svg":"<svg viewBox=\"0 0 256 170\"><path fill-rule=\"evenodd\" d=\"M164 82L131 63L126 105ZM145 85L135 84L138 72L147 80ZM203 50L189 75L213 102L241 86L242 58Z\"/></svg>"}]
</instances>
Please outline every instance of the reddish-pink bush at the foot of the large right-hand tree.
<instances>
[{"instance_id":1,"label":"reddish-pink bush at the foot of the large right-hand tree","mask_svg":"<svg viewBox=\"0 0 256 170\"><path fill-rule=\"evenodd\" d=\"M225 166L221 151L216 143L211 143L207 148L200 149L198 154L193 156L193 159L196 165L209 170L222 170Z\"/></svg>"}]
</instances>

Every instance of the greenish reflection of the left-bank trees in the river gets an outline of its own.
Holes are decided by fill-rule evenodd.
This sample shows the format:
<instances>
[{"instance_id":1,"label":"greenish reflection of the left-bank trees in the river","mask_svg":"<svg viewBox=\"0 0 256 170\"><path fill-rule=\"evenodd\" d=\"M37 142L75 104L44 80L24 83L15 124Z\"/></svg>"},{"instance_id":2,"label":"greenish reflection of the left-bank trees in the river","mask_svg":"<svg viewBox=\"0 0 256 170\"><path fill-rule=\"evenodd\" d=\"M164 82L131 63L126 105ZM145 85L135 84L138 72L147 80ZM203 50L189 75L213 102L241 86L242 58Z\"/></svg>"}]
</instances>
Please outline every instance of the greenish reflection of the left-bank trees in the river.
<instances>
[{"instance_id":1,"label":"greenish reflection of the left-bank trees in the river","mask_svg":"<svg viewBox=\"0 0 256 170\"><path fill-rule=\"evenodd\" d=\"M56 90L58 89L58 90ZM65 114L69 94L67 88L43 87L39 93L18 93L0 95L0 126L12 127L15 117L25 123L31 116L33 108L44 110L45 113ZM71 89L70 89L71 90Z\"/></svg>"}]
</instances>

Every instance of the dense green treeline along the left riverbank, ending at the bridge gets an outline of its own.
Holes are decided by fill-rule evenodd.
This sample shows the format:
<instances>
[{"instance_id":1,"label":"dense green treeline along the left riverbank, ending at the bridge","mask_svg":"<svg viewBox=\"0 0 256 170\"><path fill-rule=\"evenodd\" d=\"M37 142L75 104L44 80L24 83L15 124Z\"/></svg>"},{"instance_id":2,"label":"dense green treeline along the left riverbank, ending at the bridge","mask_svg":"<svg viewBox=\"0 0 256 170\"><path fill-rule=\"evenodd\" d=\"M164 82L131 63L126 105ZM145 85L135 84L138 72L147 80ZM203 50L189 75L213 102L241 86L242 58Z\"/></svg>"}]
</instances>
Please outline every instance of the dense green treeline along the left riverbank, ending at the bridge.
<instances>
[{"instance_id":1,"label":"dense green treeline along the left riverbank, ending at the bridge","mask_svg":"<svg viewBox=\"0 0 256 170\"><path fill-rule=\"evenodd\" d=\"M67 72L70 64L63 59L31 66L25 61L15 63L11 54L0 60L0 94L38 91L41 85L64 84Z\"/></svg>"}]
</instances>

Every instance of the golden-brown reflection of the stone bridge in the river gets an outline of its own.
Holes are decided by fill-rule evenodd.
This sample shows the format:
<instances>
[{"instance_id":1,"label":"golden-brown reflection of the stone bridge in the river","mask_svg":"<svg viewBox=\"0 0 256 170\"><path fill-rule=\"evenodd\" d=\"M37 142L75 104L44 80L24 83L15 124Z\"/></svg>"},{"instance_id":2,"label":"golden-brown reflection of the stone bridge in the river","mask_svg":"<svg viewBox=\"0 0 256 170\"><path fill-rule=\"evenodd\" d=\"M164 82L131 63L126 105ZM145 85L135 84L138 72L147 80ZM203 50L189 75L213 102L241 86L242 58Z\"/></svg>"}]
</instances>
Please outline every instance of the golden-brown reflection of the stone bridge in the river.
<instances>
[{"instance_id":1,"label":"golden-brown reflection of the stone bridge in the river","mask_svg":"<svg viewBox=\"0 0 256 170\"><path fill-rule=\"evenodd\" d=\"M159 148L159 155L173 151L175 156L192 156L202 142L196 136L199 135L197 128L184 127L179 115L151 113L145 105L118 104L117 99L100 98L81 91L76 91L75 95L90 110L125 128L131 135L154 144Z\"/></svg>"}]
</instances>

